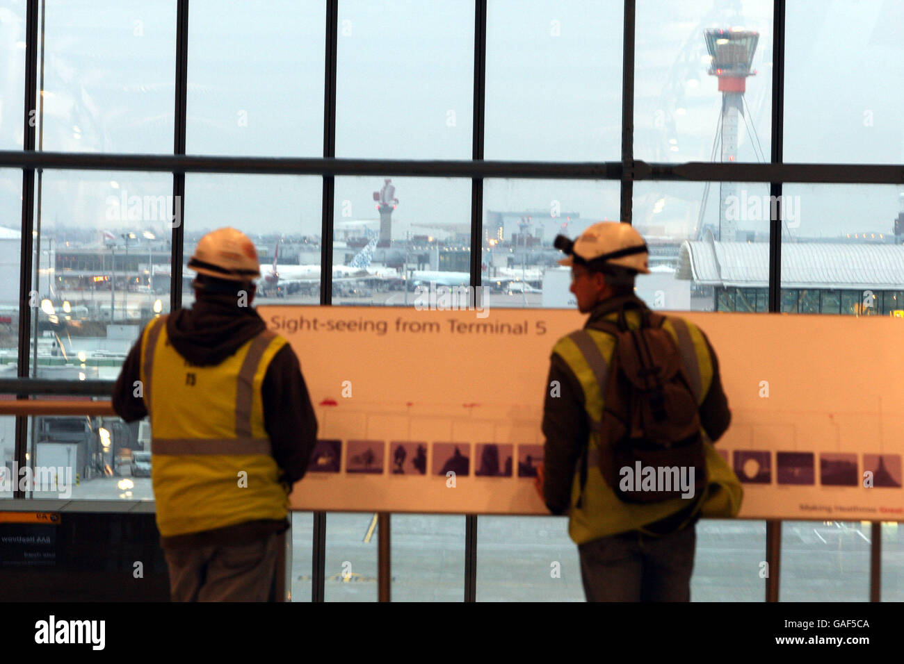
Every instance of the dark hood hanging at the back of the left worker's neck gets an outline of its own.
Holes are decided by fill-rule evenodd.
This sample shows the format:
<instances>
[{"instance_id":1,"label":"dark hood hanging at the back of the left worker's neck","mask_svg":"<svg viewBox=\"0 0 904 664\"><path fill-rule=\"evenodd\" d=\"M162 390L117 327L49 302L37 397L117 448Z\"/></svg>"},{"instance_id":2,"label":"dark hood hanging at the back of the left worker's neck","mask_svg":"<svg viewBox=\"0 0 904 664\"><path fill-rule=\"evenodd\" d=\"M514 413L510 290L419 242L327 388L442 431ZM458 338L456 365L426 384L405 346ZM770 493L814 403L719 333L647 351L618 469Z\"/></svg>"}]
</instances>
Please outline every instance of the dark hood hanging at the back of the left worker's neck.
<instances>
[{"instance_id":1,"label":"dark hood hanging at the back of the left worker's neck","mask_svg":"<svg viewBox=\"0 0 904 664\"><path fill-rule=\"evenodd\" d=\"M219 364L266 328L254 309L238 306L232 295L205 295L166 319L174 349L202 367Z\"/></svg>"}]
</instances>

